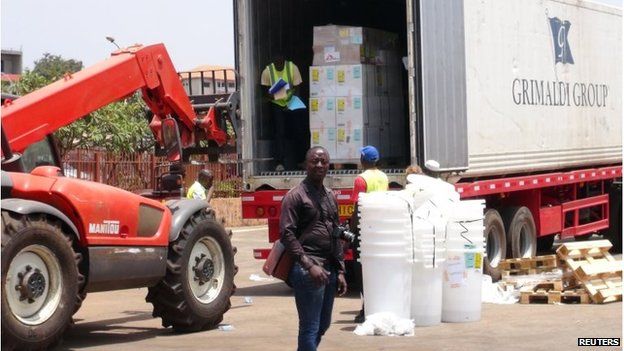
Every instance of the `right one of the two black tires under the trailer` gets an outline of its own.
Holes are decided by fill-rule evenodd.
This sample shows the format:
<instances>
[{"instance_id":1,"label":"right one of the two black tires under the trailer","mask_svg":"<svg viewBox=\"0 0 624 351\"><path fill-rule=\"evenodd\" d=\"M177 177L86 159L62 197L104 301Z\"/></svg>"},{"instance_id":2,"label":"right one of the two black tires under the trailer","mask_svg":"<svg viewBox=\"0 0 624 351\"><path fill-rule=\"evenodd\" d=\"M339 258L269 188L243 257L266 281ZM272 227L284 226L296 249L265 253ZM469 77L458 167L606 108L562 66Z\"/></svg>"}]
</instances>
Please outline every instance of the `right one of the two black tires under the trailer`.
<instances>
[{"instance_id":1,"label":"right one of the two black tires under the trailer","mask_svg":"<svg viewBox=\"0 0 624 351\"><path fill-rule=\"evenodd\" d=\"M512 258L535 257L537 230L531 211L524 206L507 208L503 222L507 233L507 255Z\"/></svg>"}]
</instances>

